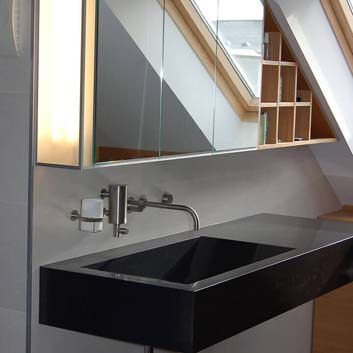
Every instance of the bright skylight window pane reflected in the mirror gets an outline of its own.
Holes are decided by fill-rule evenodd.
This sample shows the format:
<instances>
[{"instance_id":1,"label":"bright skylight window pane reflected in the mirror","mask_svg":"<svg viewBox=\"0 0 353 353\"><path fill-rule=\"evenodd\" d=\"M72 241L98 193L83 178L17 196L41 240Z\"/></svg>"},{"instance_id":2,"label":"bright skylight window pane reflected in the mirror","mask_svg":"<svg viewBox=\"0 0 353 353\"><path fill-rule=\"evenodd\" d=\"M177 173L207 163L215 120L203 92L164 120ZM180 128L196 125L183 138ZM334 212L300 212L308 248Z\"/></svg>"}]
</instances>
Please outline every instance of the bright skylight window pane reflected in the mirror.
<instances>
[{"instance_id":1,"label":"bright skylight window pane reflected in the mirror","mask_svg":"<svg viewBox=\"0 0 353 353\"><path fill-rule=\"evenodd\" d=\"M262 1L193 0L193 3L244 84L258 97L264 20Z\"/></svg>"}]
</instances>

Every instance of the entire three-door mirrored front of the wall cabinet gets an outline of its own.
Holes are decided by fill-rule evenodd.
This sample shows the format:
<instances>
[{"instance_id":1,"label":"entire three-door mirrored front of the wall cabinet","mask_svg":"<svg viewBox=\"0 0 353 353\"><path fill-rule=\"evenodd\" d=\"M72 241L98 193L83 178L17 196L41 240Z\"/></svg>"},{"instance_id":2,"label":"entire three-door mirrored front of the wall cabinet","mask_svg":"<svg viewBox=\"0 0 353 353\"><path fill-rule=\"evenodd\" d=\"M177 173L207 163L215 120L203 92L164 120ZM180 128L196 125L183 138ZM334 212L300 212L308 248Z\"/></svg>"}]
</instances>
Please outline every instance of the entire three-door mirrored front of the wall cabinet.
<instances>
[{"instance_id":1,"label":"entire three-door mirrored front of the wall cabinet","mask_svg":"<svg viewBox=\"0 0 353 353\"><path fill-rule=\"evenodd\" d=\"M101 0L95 162L255 148L260 0Z\"/></svg>"}]
</instances>

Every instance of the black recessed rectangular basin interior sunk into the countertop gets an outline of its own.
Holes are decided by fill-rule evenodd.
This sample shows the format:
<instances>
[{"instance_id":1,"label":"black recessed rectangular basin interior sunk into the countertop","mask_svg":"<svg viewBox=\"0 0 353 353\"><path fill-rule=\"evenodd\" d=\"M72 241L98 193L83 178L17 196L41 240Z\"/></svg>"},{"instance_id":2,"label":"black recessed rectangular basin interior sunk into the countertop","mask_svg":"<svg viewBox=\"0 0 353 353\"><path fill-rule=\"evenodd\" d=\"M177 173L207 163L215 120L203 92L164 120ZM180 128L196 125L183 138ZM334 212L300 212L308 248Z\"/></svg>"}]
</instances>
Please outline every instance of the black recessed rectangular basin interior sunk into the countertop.
<instances>
[{"instance_id":1,"label":"black recessed rectangular basin interior sunk into the countertop","mask_svg":"<svg viewBox=\"0 0 353 353\"><path fill-rule=\"evenodd\" d=\"M87 268L191 284L289 250L293 249L200 237L99 262Z\"/></svg>"}]
</instances>

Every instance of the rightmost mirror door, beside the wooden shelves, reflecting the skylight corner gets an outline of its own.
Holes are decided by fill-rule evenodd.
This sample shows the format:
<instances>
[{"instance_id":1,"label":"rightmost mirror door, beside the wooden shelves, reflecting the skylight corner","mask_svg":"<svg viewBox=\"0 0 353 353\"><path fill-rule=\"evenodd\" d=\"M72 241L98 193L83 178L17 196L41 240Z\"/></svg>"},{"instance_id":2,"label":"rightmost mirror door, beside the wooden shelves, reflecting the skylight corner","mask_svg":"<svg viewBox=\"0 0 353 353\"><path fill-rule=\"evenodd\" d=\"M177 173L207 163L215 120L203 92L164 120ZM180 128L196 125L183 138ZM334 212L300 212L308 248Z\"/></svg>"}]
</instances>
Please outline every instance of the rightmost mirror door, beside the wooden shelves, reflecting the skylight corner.
<instances>
[{"instance_id":1,"label":"rightmost mirror door, beside the wooden shelves, reflecting the skylight corner","mask_svg":"<svg viewBox=\"0 0 353 353\"><path fill-rule=\"evenodd\" d=\"M216 151L254 148L258 144L263 22L261 0L219 0ZM233 87L232 94L227 86Z\"/></svg>"}]
</instances>

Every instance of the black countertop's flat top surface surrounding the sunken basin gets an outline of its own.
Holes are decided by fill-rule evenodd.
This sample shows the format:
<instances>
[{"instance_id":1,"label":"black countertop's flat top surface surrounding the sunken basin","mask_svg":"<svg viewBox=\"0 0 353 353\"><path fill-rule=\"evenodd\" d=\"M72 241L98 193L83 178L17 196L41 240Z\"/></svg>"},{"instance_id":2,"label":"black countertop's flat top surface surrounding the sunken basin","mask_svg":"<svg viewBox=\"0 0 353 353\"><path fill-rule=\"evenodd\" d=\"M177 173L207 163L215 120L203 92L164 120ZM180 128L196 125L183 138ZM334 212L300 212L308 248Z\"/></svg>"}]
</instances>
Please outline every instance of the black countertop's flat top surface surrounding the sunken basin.
<instances>
[{"instance_id":1,"label":"black countertop's flat top surface surrounding the sunken basin","mask_svg":"<svg viewBox=\"0 0 353 353\"><path fill-rule=\"evenodd\" d=\"M180 284L137 276L117 276L113 273L105 273L87 268L89 265L109 260L111 258L123 257L188 239L196 239L200 236L275 245L292 248L293 250L193 284ZM210 286L213 283L218 283L220 280L242 276L248 272L256 271L265 266L270 266L273 263L285 261L286 259L293 258L297 255L331 246L336 242L350 238L353 238L353 224L350 225L348 223L300 217L259 214L204 227L199 231L187 231L173 234L133 245L53 263L46 265L45 267L196 291Z\"/></svg>"}]
</instances>

